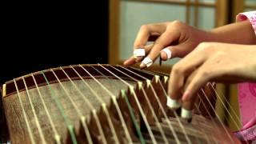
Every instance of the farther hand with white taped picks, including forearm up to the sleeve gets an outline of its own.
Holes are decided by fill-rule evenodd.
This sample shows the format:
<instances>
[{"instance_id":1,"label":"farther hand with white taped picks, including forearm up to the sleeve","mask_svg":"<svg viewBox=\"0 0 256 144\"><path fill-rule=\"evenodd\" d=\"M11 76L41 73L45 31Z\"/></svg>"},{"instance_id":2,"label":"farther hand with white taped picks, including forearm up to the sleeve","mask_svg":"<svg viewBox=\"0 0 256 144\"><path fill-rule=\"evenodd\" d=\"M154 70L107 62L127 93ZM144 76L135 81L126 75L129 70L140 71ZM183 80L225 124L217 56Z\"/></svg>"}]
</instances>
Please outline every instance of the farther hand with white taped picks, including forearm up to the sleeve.
<instances>
[{"instance_id":1,"label":"farther hand with white taped picks, including forearm up to the sleeve","mask_svg":"<svg viewBox=\"0 0 256 144\"><path fill-rule=\"evenodd\" d=\"M154 44L146 46L146 42L150 40L153 40ZM144 25L134 42L134 51L139 52L136 51L138 53L123 64L130 66L144 58L140 65L144 68L150 66L159 55L164 61L183 58L200 42L256 44L256 37L249 21L221 26L210 31L198 30L179 21Z\"/></svg>"}]
</instances>

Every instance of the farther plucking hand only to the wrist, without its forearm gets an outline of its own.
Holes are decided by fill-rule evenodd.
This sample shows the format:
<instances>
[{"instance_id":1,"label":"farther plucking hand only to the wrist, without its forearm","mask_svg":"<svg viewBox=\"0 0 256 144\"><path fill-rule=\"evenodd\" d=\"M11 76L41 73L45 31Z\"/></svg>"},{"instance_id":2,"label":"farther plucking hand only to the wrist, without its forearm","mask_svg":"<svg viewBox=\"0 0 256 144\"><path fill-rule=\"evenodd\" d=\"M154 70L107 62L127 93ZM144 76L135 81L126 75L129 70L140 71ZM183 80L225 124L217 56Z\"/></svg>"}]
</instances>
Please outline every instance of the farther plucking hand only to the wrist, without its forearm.
<instances>
[{"instance_id":1,"label":"farther plucking hand only to the wrist, without its forearm","mask_svg":"<svg viewBox=\"0 0 256 144\"><path fill-rule=\"evenodd\" d=\"M154 44L146 46L146 42L149 42L150 38L156 38ZM194 50L198 43L210 39L213 40L210 38L210 32L198 30L178 21L145 25L139 30L134 42L134 50L144 49L145 55L140 52L136 58L133 56L127 59L124 65L130 66L136 62L141 62L142 58L146 56L147 59L150 58L151 63L142 61L140 67L144 68L150 66L160 54L162 60L182 58ZM162 50L164 48L167 51Z\"/></svg>"}]
</instances>

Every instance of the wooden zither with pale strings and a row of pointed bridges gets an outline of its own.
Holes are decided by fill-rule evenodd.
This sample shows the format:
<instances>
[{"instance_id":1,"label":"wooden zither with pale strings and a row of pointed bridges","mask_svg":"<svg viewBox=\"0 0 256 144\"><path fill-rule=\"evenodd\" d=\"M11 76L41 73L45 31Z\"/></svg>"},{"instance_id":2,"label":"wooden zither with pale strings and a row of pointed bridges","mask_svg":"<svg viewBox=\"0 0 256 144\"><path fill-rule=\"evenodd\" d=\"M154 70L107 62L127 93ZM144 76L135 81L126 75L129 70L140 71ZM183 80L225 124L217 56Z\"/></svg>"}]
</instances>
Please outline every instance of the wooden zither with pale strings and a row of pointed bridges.
<instances>
[{"instance_id":1,"label":"wooden zither with pale strings and a row of pointed bridges","mask_svg":"<svg viewBox=\"0 0 256 144\"><path fill-rule=\"evenodd\" d=\"M206 109L214 108L206 97L199 97L192 122L168 109L167 83L166 74L123 66L38 71L2 86L4 131L22 144L238 143Z\"/></svg>"}]
</instances>

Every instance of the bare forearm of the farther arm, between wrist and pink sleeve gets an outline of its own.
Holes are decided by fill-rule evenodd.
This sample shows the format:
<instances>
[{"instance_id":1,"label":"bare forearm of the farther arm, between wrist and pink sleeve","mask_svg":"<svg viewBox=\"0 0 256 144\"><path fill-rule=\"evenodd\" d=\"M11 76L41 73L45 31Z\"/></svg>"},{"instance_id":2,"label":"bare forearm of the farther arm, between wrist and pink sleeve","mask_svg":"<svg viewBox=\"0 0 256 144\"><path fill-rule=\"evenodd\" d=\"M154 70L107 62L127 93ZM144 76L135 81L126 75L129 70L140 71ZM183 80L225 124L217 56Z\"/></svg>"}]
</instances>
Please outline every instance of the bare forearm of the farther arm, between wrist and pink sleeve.
<instances>
[{"instance_id":1,"label":"bare forearm of the farther arm, between wrist and pink sleeve","mask_svg":"<svg viewBox=\"0 0 256 144\"><path fill-rule=\"evenodd\" d=\"M249 21L232 23L210 30L210 37L214 42L256 44L254 29Z\"/></svg>"}]
</instances>

